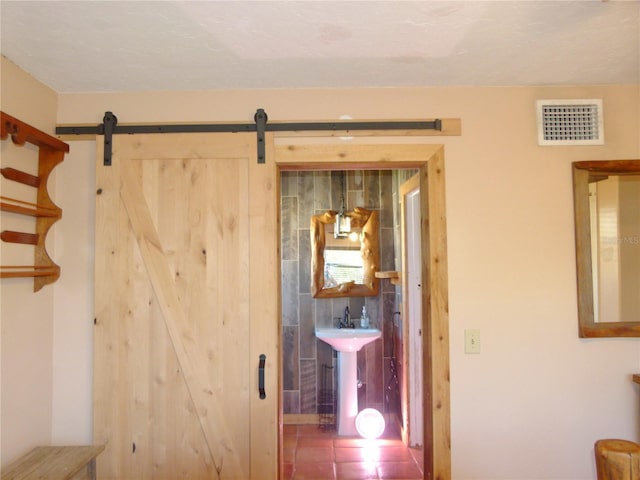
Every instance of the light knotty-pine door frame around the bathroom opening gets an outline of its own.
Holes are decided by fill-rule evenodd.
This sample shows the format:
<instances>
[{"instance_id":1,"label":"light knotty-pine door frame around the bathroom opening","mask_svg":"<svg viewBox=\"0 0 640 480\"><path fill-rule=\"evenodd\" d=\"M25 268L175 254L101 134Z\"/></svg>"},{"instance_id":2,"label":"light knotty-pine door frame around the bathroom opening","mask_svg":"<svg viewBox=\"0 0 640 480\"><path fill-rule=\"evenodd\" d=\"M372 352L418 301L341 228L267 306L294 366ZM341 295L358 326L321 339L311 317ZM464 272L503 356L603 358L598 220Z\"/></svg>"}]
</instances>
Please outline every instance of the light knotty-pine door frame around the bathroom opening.
<instances>
[{"instance_id":1,"label":"light knotty-pine door frame around the bathroom opening","mask_svg":"<svg viewBox=\"0 0 640 480\"><path fill-rule=\"evenodd\" d=\"M444 146L321 142L295 144L281 141L276 144L278 192L283 171L420 169L422 278L426 286L422 291L424 478L448 480L451 478L451 402ZM280 221L278 213L278 224ZM278 282L278 298L281 288L281 282ZM281 351L279 364L281 367ZM278 448L282 474L283 407L280 390L278 395Z\"/></svg>"}]
</instances>

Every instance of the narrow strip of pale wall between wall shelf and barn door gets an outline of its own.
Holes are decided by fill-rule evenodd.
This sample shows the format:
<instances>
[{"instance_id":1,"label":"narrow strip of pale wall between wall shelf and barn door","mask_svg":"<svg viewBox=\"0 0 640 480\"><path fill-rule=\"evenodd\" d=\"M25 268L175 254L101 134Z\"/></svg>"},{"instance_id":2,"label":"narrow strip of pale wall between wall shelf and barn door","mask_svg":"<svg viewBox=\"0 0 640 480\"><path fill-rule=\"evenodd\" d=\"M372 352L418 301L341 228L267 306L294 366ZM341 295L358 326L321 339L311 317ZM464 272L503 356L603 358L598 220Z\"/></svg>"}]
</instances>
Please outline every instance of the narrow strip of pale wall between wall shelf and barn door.
<instances>
[{"instance_id":1,"label":"narrow strip of pale wall between wall shelf and barn door","mask_svg":"<svg viewBox=\"0 0 640 480\"><path fill-rule=\"evenodd\" d=\"M53 285L53 418L56 444L91 443L93 370L93 245L95 144L70 142L56 167L55 202L63 217L54 229L60 279Z\"/></svg>"}]
</instances>

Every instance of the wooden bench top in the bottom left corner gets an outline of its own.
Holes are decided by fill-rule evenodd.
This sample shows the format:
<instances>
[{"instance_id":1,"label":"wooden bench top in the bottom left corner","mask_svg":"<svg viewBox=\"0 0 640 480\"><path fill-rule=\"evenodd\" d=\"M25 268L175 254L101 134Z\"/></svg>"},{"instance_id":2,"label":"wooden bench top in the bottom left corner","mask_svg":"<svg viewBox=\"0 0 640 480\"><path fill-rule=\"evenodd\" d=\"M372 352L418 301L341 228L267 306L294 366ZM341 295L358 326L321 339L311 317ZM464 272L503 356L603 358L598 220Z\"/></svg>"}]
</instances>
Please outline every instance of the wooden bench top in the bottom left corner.
<instances>
[{"instance_id":1,"label":"wooden bench top in the bottom left corner","mask_svg":"<svg viewBox=\"0 0 640 480\"><path fill-rule=\"evenodd\" d=\"M95 480L100 446L36 447L2 469L2 480Z\"/></svg>"}]
</instances>

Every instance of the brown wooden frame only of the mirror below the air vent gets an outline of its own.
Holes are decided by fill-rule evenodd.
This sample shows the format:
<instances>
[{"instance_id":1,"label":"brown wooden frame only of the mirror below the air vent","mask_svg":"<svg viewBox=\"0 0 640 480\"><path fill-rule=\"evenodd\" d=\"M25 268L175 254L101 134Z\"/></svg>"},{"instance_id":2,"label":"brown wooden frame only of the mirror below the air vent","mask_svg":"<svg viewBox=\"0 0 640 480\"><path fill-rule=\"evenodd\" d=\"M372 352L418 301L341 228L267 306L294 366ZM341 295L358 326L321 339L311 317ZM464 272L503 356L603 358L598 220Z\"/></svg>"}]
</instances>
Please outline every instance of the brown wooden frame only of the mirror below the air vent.
<instances>
[{"instance_id":1,"label":"brown wooden frame only of the mirror below the air vent","mask_svg":"<svg viewBox=\"0 0 640 480\"><path fill-rule=\"evenodd\" d=\"M593 305L589 179L640 174L640 160L573 162L573 200L580 337L640 337L640 322L596 322Z\"/></svg>"}]
</instances>

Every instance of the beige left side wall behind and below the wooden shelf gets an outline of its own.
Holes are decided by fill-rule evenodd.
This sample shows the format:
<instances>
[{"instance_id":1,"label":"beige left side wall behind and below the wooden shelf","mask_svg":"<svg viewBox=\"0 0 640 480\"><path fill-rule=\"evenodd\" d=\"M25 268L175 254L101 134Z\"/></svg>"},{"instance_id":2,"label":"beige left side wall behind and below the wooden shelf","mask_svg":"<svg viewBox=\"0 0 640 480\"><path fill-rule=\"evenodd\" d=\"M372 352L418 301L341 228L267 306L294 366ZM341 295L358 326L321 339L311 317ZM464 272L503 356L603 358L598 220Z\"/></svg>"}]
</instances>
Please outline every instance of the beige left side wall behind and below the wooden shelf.
<instances>
[{"instance_id":1,"label":"beige left side wall behind and below the wooden shelf","mask_svg":"<svg viewBox=\"0 0 640 480\"><path fill-rule=\"evenodd\" d=\"M2 58L1 98L3 112L47 133L56 124L57 94ZM17 168L37 173L37 151L29 146L16 148L2 142L2 164L19 157ZM34 170L35 169L35 170ZM55 178L54 171L53 177ZM3 180L3 195L11 195L15 185ZM55 185L49 185L50 190ZM33 193L33 192L30 192ZM35 197L35 194L34 194ZM25 197L20 197L25 198ZM32 199L35 201L35 198ZM9 218L3 214L2 229L9 222L35 228L32 219ZM15 217L15 216L13 216ZM54 227L55 229L56 227ZM29 231L29 230L27 230ZM31 230L32 231L32 230ZM54 238L47 238L49 253ZM3 263L14 263L10 245L2 243ZM33 254L31 253L31 261ZM55 258L55 256L54 256ZM51 442L53 391L53 302L54 290L45 287L33 293L33 279L2 279L0 282L0 322L2 324L2 464L38 444Z\"/></svg>"}]
</instances>

